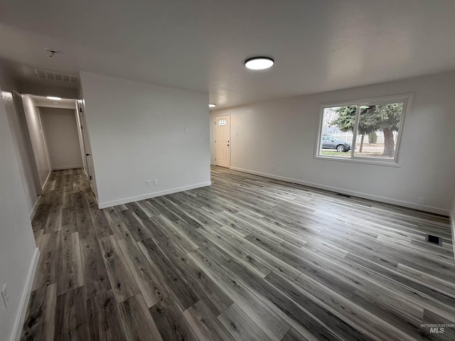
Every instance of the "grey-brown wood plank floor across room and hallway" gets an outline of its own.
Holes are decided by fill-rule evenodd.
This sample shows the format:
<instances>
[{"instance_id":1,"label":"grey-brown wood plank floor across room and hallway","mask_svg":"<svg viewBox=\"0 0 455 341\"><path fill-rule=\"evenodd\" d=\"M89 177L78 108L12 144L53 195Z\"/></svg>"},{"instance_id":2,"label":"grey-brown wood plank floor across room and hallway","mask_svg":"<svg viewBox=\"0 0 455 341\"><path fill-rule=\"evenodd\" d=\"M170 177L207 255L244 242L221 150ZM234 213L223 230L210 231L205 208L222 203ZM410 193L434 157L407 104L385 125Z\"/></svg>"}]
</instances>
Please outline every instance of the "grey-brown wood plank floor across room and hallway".
<instances>
[{"instance_id":1,"label":"grey-brown wood plank floor across room and hallway","mask_svg":"<svg viewBox=\"0 0 455 341\"><path fill-rule=\"evenodd\" d=\"M208 188L98 210L55 171L21 340L455 340L449 220L212 168ZM442 247L424 242L442 237Z\"/></svg>"}]
</instances>

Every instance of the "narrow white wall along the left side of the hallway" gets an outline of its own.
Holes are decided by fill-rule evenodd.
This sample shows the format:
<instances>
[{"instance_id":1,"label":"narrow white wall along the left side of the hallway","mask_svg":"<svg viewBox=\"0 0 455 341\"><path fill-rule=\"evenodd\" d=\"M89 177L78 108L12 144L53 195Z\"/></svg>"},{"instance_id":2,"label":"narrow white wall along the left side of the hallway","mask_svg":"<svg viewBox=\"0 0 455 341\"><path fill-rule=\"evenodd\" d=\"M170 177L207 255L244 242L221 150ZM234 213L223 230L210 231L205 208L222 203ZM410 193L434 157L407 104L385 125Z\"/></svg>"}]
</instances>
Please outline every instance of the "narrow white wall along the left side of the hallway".
<instances>
[{"instance_id":1,"label":"narrow white wall along the left side of the hallway","mask_svg":"<svg viewBox=\"0 0 455 341\"><path fill-rule=\"evenodd\" d=\"M44 188L45 181L50 174L50 162L48 157L47 146L41 124L41 115L33 99L28 94L22 95L23 109L26 113L28 132L30 134L33 156L36 162L38 178L41 188Z\"/></svg>"}]
</instances>

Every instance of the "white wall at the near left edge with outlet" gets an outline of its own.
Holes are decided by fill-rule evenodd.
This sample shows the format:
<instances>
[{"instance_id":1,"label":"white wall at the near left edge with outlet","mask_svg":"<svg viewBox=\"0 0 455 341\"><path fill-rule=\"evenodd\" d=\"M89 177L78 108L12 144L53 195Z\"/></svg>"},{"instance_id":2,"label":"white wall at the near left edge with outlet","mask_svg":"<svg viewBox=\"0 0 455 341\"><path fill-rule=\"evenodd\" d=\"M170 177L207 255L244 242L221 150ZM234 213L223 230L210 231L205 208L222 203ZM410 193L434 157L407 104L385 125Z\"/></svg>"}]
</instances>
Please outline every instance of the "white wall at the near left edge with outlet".
<instances>
[{"instance_id":1,"label":"white wall at the near left edge with outlet","mask_svg":"<svg viewBox=\"0 0 455 341\"><path fill-rule=\"evenodd\" d=\"M10 104L7 104L10 105ZM14 142L0 97L0 288L7 284L9 307L0 302L0 340L12 340L25 313L37 250Z\"/></svg>"}]
</instances>

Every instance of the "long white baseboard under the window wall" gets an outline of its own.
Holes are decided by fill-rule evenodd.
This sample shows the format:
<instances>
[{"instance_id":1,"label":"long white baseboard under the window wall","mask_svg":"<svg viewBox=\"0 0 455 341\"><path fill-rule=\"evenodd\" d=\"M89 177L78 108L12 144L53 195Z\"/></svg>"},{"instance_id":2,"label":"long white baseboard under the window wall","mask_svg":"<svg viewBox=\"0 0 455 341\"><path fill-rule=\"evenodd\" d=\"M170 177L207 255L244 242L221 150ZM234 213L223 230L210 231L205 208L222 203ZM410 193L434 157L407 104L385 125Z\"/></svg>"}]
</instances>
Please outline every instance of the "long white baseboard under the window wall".
<instances>
[{"instance_id":1,"label":"long white baseboard under the window wall","mask_svg":"<svg viewBox=\"0 0 455 341\"><path fill-rule=\"evenodd\" d=\"M449 215L449 211L448 210L444 210L444 209L441 209L439 207L419 205L419 204L414 204L414 202L395 200L395 199L391 199L390 197L380 197L379 195L371 195L371 194L367 194L367 193L355 192L353 190L345 190L343 188L336 188L336 187L332 187L332 186L321 185L319 183L309 183L309 182L303 181L303 180L284 178L284 177L279 176L279 175L261 173L261 172L257 172L257 171L250 171L249 169L243 169L243 168L237 168L237 167L230 167L230 169L232 169L234 171L240 171L240 172L243 172L243 173L250 173L250 174L264 176L265 178L272 178L272 179L275 179L275 180L282 180L282 181L285 181L287 183L298 183L299 185L304 185L304 186L313 187L313 188L319 188L321 190L330 190L331 192L335 192L335 193L342 193L342 194L346 194L346 195L352 195L354 197L363 197L364 199L375 200L375 201L379 201L379 202L385 202L386 204L392 204L392 205L412 208L414 210L421 210L421 211L425 211L425 212L436 213L437 215L445 215L445 216Z\"/></svg>"}]
</instances>

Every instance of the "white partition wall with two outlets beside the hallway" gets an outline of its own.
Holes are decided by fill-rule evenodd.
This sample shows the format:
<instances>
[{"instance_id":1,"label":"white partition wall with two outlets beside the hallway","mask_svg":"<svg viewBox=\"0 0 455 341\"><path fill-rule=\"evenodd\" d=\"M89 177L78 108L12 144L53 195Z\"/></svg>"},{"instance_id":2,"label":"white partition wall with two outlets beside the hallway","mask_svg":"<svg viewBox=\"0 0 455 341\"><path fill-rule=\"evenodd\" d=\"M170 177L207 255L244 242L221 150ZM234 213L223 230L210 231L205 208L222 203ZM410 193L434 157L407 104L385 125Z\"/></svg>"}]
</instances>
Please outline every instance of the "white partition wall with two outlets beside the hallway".
<instances>
[{"instance_id":1,"label":"white partition wall with two outlets beside the hallway","mask_svg":"<svg viewBox=\"0 0 455 341\"><path fill-rule=\"evenodd\" d=\"M210 184L208 94L80 72L100 207ZM159 185L146 187L146 180Z\"/></svg>"}]
</instances>

